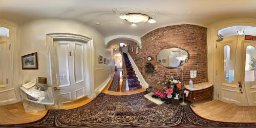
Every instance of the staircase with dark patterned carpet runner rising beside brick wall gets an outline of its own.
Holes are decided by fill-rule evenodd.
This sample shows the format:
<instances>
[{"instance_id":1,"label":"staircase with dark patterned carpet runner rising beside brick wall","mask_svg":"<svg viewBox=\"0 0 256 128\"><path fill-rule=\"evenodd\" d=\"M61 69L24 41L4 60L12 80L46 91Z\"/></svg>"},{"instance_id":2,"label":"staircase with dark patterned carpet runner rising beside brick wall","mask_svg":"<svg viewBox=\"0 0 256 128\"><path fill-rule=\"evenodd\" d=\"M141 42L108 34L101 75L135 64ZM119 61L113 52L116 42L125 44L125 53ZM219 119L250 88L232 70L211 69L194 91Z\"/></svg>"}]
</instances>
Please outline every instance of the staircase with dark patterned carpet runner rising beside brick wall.
<instances>
[{"instance_id":1,"label":"staircase with dark patterned carpet runner rising beside brick wall","mask_svg":"<svg viewBox=\"0 0 256 128\"><path fill-rule=\"evenodd\" d=\"M138 80L138 77L136 76L133 70L133 66L130 62L130 59L126 53L123 53L123 58L124 58L126 71L127 71L127 82L128 82L129 90L141 89L142 86L140 85L140 81Z\"/></svg>"}]
</instances>

